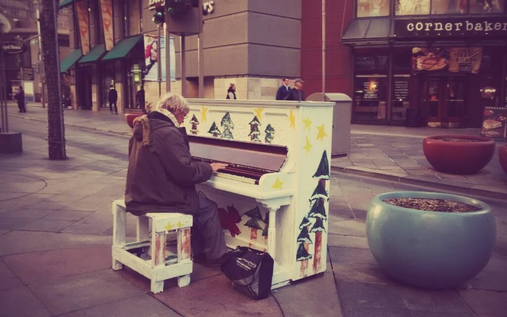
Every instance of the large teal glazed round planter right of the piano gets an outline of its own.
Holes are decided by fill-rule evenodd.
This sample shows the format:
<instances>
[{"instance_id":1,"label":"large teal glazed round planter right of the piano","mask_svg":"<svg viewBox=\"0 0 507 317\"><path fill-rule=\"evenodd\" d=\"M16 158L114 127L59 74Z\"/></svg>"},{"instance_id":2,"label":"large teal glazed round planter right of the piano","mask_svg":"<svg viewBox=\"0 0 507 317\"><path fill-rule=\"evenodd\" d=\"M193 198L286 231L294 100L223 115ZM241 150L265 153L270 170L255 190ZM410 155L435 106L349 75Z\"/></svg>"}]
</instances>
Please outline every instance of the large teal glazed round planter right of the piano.
<instances>
[{"instance_id":1,"label":"large teal glazed round planter right of the piano","mask_svg":"<svg viewBox=\"0 0 507 317\"><path fill-rule=\"evenodd\" d=\"M397 207L386 198L449 199L482 209L470 213L427 212ZM453 288L477 275L493 252L496 224L479 200L431 192L377 195L366 218L370 250L380 267L408 285Z\"/></svg>"}]
</instances>

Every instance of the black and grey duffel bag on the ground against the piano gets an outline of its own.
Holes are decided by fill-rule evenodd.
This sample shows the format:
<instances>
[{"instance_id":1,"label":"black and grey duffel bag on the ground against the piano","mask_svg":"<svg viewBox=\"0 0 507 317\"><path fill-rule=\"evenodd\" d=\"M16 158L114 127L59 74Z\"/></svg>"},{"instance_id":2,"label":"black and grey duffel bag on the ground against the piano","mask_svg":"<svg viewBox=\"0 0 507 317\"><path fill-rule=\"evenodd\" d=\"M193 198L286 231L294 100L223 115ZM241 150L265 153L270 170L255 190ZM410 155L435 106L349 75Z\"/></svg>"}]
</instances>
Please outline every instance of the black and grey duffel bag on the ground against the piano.
<instances>
[{"instance_id":1,"label":"black and grey duffel bag on the ground against the piano","mask_svg":"<svg viewBox=\"0 0 507 317\"><path fill-rule=\"evenodd\" d=\"M221 269L232 285L253 299L268 297L274 265L269 253L238 246L228 256Z\"/></svg>"}]
</instances>

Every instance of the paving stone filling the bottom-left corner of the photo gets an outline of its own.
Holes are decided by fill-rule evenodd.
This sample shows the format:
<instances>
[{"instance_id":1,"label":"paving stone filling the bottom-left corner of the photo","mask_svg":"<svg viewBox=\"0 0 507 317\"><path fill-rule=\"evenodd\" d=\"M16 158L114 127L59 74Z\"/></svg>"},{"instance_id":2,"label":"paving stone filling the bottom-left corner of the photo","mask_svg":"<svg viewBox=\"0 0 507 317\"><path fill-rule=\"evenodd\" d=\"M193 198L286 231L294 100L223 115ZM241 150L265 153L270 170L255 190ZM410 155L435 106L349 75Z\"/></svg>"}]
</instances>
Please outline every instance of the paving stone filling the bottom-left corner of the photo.
<instances>
[{"instance_id":1,"label":"paving stone filling the bottom-left corner of the photo","mask_svg":"<svg viewBox=\"0 0 507 317\"><path fill-rule=\"evenodd\" d=\"M52 315L25 286L1 291L0 307L2 317L46 317Z\"/></svg>"}]
</instances>

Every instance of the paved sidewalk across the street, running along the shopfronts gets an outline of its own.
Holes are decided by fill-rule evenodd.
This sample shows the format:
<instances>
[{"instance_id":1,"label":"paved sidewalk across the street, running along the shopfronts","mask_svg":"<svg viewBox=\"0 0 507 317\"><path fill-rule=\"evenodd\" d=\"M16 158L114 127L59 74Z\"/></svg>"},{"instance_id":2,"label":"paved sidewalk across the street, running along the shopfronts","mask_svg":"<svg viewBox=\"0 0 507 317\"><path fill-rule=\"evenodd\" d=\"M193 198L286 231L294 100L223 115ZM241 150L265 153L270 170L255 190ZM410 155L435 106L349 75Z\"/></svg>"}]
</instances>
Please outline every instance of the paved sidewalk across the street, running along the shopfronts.
<instances>
[{"instance_id":1,"label":"paved sidewalk across the street, running along the shopfronts","mask_svg":"<svg viewBox=\"0 0 507 317\"><path fill-rule=\"evenodd\" d=\"M10 115L35 121L47 121L47 109L33 104L26 114L9 108ZM106 109L99 112L65 110L65 125L130 136L131 129L124 115L112 115ZM415 184L464 194L495 198L507 197L507 174L498 161L498 146L491 162L473 175L452 175L434 170L422 152L422 138L438 134L478 136L479 129L407 128L391 126L352 125L350 152L346 157L333 158L332 170L360 174L405 184Z\"/></svg>"}]
</instances>

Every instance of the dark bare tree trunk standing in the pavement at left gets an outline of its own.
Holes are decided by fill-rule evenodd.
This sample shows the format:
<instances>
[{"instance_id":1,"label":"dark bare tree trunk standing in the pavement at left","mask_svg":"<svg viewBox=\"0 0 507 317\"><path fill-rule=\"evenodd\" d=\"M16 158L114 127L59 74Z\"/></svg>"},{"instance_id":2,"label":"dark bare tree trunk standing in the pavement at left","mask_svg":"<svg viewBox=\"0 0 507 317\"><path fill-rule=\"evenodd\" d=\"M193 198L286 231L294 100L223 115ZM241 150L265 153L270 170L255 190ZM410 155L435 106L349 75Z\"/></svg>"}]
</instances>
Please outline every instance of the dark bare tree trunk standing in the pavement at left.
<instances>
[{"instance_id":1,"label":"dark bare tree trunk standing in the pavement at left","mask_svg":"<svg viewBox=\"0 0 507 317\"><path fill-rule=\"evenodd\" d=\"M48 89L48 153L50 160L64 160L65 131L60 94L60 63L56 33L57 0L42 0L41 39L44 74Z\"/></svg>"}]
</instances>

